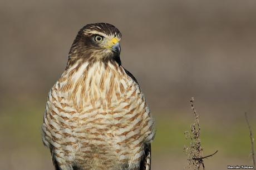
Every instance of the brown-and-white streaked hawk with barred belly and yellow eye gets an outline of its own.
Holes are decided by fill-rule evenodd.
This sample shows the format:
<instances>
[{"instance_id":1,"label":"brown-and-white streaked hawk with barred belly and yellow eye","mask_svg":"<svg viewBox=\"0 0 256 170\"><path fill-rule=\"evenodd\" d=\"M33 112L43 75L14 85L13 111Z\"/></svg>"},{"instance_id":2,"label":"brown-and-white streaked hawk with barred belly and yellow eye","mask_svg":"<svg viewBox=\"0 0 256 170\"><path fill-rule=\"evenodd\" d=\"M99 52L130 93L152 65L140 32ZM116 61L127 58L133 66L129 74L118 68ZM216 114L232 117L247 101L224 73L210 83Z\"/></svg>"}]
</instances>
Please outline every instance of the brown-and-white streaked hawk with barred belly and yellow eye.
<instances>
[{"instance_id":1,"label":"brown-and-white streaked hawk with barred belly and yellow eye","mask_svg":"<svg viewBox=\"0 0 256 170\"><path fill-rule=\"evenodd\" d=\"M73 41L43 117L55 169L150 169L154 121L120 40L115 26L93 23Z\"/></svg>"}]
</instances>

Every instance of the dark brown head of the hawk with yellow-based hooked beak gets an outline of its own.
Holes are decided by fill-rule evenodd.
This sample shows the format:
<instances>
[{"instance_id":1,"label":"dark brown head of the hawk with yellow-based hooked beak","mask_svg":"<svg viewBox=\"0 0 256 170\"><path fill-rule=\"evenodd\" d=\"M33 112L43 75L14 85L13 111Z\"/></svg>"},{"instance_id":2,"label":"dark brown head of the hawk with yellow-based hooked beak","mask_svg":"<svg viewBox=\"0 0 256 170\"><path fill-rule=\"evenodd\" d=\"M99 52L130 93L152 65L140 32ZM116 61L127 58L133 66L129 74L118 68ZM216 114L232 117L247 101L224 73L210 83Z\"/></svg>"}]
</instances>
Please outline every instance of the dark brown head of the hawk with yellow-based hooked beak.
<instances>
[{"instance_id":1,"label":"dark brown head of the hawk with yellow-based hooked beak","mask_svg":"<svg viewBox=\"0 0 256 170\"><path fill-rule=\"evenodd\" d=\"M78 32L68 57L89 61L120 60L120 40L120 31L111 24L87 24Z\"/></svg>"}]
</instances>

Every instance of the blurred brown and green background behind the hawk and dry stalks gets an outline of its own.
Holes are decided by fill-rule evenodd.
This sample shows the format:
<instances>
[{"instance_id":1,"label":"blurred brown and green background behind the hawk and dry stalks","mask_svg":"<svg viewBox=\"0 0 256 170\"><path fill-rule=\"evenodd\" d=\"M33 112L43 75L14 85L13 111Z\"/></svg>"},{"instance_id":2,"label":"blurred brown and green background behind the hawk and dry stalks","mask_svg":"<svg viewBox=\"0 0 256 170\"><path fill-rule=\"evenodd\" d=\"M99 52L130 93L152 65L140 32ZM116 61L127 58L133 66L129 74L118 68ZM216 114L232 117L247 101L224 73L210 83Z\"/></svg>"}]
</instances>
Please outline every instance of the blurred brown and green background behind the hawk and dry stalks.
<instances>
[{"instance_id":1,"label":"blurred brown and green background behind the hawk and dry stalks","mask_svg":"<svg viewBox=\"0 0 256 170\"><path fill-rule=\"evenodd\" d=\"M78 30L114 24L121 59L138 79L156 137L152 169L183 169L184 131L200 114L206 169L252 165L256 134L255 1L0 1L0 169L53 169L41 142L49 89ZM255 136L254 136L255 137Z\"/></svg>"}]
</instances>

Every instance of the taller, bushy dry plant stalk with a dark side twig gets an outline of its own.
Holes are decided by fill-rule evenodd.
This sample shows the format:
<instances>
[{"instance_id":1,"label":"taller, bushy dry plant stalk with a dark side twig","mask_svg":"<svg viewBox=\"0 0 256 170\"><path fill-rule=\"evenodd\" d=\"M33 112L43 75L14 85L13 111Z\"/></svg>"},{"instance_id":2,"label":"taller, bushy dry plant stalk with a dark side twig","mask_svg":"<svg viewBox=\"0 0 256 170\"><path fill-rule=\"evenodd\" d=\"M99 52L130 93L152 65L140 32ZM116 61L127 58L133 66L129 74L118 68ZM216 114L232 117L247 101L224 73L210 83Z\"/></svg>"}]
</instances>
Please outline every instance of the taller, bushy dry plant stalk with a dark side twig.
<instances>
[{"instance_id":1,"label":"taller, bushy dry plant stalk with a dark side twig","mask_svg":"<svg viewBox=\"0 0 256 170\"><path fill-rule=\"evenodd\" d=\"M190 125L190 131L185 131L185 137L186 139L190 139L190 146L184 146L184 152L186 153L186 156L188 157L188 166L187 169L194 169L199 170L202 166L204 167L204 159L213 156L218 151L214 152L213 154L210 154L208 156L203 157L203 148L201 147L201 139L200 139L200 124L199 124L199 114L196 112L195 106L194 106L194 97L191 98L191 109L193 111L195 122Z\"/></svg>"}]
</instances>

